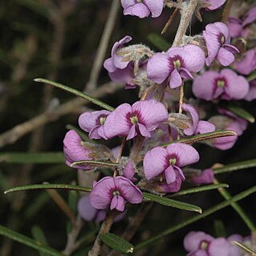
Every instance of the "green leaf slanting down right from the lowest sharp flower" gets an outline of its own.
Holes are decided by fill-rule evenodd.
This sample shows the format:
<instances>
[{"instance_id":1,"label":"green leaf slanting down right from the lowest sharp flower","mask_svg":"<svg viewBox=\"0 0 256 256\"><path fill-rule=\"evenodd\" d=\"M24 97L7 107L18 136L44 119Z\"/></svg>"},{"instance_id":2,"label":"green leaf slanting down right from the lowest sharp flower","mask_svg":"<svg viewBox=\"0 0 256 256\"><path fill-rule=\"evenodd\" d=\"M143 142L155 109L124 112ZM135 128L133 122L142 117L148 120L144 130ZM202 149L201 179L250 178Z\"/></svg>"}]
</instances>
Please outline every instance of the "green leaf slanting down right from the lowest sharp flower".
<instances>
[{"instance_id":1,"label":"green leaf slanting down right from the lowest sharp flower","mask_svg":"<svg viewBox=\"0 0 256 256\"><path fill-rule=\"evenodd\" d=\"M144 199L155 201L156 203L161 205L166 205L166 206L177 208L177 209L184 209L187 211L202 213L201 208L198 207L197 205L190 205L182 201L176 201L176 200L173 200L167 197L161 197L152 193L143 193L143 197Z\"/></svg>"}]
</instances>

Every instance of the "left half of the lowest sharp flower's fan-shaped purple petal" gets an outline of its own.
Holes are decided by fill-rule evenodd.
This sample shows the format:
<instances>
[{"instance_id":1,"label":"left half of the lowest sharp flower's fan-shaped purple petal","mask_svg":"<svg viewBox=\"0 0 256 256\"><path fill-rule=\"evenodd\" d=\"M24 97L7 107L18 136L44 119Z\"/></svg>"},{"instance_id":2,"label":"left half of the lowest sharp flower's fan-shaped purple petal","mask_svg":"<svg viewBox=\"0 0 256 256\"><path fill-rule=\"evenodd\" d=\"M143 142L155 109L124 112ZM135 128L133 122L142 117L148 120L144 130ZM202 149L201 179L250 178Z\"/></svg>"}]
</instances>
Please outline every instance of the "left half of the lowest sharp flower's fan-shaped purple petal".
<instances>
[{"instance_id":1,"label":"left half of the lowest sharp flower's fan-shaped purple petal","mask_svg":"<svg viewBox=\"0 0 256 256\"><path fill-rule=\"evenodd\" d=\"M107 209L112 201L112 191L116 185L113 177L104 177L98 181L90 194L91 206L96 209Z\"/></svg>"}]
</instances>

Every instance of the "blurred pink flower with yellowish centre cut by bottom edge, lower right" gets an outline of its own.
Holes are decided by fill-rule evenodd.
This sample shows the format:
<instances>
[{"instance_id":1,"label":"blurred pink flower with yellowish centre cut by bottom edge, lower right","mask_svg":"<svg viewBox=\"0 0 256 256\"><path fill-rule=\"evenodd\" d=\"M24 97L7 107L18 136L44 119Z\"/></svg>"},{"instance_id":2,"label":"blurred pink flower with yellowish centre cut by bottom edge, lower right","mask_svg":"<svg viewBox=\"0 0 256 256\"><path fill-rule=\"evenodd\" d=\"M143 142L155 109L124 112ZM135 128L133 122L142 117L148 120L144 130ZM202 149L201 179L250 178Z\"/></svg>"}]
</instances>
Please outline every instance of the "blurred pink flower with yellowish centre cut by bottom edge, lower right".
<instances>
[{"instance_id":1,"label":"blurred pink flower with yellowish centre cut by bottom edge, lower right","mask_svg":"<svg viewBox=\"0 0 256 256\"><path fill-rule=\"evenodd\" d=\"M187 256L229 256L230 243L225 238L213 238L204 232L191 231L184 239Z\"/></svg>"}]
</instances>

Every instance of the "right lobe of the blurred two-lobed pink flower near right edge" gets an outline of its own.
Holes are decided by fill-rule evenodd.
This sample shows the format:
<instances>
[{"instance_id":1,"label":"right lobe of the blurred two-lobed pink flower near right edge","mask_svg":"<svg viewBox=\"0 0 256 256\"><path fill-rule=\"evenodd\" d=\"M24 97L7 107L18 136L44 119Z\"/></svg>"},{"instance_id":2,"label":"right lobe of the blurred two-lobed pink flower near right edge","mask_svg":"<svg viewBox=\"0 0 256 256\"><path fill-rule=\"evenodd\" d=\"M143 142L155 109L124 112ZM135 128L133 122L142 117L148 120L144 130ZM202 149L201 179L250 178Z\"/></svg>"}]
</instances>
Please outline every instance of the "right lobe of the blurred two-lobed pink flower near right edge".
<instances>
[{"instance_id":1,"label":"right lobe of the blurred two-lobed pink flower near right edge","mask_svg":"<svg viewBox=\"0 0 256 256\"><path fill-rule=\"evenodd\" d=\"M226 94L232 100L242 100L249 92L249 83L242 75L237 75L230 69L223 69L221 75L226 77Z\"/></svg>"}]
</instances>

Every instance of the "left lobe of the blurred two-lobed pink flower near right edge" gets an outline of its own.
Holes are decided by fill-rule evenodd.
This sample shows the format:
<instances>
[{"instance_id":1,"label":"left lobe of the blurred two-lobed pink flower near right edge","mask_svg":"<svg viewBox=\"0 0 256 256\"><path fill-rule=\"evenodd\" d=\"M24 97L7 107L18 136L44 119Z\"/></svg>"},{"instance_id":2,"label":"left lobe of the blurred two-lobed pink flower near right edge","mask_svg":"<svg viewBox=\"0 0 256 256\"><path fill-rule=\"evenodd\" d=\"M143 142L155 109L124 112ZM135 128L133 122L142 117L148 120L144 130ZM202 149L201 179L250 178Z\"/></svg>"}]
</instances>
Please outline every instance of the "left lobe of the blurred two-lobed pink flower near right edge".
<instances>
[{"instance_id":1,"label":"left lobe of the blurred two-lobed pink flower near right edge","mask_svg":"<svg viewBox=\"0 0 256 256\"><path fill-rule=\"evenodd\" d=\"M205 74L198 75L193 81L193 94L203 100L213 100L216 79L218 77L219 74L216 71L206 71Z\"/></svg>"}]
</instances>

